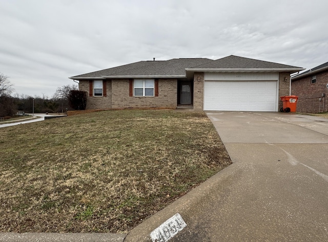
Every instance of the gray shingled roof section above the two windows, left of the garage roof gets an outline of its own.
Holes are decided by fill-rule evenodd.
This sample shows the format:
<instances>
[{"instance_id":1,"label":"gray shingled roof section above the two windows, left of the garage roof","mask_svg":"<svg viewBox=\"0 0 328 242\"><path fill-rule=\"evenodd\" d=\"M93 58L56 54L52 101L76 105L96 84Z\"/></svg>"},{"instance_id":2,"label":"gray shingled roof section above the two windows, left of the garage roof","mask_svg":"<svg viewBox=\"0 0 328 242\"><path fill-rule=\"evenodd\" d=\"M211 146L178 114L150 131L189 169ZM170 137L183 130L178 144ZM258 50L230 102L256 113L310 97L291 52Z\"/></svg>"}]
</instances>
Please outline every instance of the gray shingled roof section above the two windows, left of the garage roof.
<instances>
[{"instance_id":1,"label":"gray shingled roof section above the two windows, left of the garage roof","mask_svg":"<svg viewBox=\"0 0 328 242\"><path fill-rule=\"evenodd\" d=\"M171 60L139 61L119 67L109 68L83 75L73 76L70 79L106 79L106 78L133 78L158 77L179 78L186 77L186 68L212 61L208 58L182 58Z\"/></svg>"}]
</instances>

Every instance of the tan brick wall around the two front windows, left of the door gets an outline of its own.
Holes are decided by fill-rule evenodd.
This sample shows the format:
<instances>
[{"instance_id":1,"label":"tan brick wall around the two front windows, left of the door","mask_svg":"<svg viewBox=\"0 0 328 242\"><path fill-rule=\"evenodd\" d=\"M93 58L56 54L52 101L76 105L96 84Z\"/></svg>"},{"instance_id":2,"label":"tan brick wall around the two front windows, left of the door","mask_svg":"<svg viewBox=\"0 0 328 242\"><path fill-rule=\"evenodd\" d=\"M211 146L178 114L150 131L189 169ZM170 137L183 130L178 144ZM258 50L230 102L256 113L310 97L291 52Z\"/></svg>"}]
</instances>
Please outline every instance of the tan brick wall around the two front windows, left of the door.
<instances>
[{"instance_id":1,"label":"tan brick wall around the two front windows, left of the door","mask_svg":"<svg viewBox=\"0 0 328 242\"><path fill-rule=\"evenodd\" d=\"M130 97L129 79L107 80L107 97L90 97L89 80L80 80L79 90L88 92L86 109L177 106L177 79L159 79L158 97Z\"/></svg>"}]
</instances>

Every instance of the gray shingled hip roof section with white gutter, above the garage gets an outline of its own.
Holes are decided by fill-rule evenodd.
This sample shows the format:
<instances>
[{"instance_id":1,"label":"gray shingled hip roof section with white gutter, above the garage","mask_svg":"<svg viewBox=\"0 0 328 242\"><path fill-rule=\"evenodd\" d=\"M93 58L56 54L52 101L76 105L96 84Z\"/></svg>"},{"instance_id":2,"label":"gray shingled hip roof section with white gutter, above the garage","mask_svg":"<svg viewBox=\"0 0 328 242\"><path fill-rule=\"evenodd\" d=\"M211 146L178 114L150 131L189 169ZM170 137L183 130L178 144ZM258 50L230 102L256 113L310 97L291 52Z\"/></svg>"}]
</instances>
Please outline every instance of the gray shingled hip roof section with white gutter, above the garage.
<instances>
[{"instance_id":1,"label":"gray shingled hip roof section with white gutter, above the garage","mask_svg":"<svg viewBox=\"0 0 328 242\"><path fill-rule=\"evenodd\" d=\"M293 65L250 59L230 55L221 59L197 65L187 71L288 71L297 72L304 70Z\"/></svg>"}]
</instances>

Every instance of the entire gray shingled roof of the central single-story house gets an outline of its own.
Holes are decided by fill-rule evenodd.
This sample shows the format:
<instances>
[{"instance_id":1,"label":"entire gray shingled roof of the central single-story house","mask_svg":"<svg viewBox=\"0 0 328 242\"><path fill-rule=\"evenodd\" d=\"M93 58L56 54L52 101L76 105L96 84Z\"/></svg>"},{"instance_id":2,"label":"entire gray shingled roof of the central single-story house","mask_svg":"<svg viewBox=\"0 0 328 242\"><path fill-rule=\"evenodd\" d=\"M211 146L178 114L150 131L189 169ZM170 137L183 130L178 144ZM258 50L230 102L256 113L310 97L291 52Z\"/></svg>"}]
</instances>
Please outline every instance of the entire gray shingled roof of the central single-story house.
<instances>
[{"instance_id":1,"label":"entire gray shingled roof of the central single-story house","mask_svg":"<svg viewBox=\"0 0 328 242\"><path fill-rule=\"evenodd\" d=\"M208 58L181 58L160 61L139 61L119 67L109 68L87 74L70 77L74 80L79 79L100 79L100 78L133 78L133 77L186 77L186 71L190 73L197 70L238 70L238 71L267 71L285 70L301 71L300 67L279 64L263 60L255 60L239 56L227 56L217 60Z\"/></svg>"}]
</instances>

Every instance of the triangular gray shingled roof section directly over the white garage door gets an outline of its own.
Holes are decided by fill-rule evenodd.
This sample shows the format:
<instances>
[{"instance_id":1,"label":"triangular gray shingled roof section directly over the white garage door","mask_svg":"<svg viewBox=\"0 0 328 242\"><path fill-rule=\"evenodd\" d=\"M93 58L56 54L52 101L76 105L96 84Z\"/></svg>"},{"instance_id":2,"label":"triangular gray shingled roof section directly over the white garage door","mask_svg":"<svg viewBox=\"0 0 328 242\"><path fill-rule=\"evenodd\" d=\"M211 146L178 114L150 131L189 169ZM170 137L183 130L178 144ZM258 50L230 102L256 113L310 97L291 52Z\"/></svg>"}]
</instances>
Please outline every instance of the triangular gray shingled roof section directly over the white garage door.
<instances>
[{"instance_id":1,"label":"triangular gray shingled roof section directly over the white garage door","mask_svg":"<svg viewBox=\"0 0 328 242\"><path fill-rule=\"evenodd\" d=\"M292 65L274 63L230 55L221 59L197 65L192 69L299 69Z\"/></svg>"}]
</instances>

